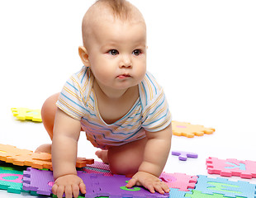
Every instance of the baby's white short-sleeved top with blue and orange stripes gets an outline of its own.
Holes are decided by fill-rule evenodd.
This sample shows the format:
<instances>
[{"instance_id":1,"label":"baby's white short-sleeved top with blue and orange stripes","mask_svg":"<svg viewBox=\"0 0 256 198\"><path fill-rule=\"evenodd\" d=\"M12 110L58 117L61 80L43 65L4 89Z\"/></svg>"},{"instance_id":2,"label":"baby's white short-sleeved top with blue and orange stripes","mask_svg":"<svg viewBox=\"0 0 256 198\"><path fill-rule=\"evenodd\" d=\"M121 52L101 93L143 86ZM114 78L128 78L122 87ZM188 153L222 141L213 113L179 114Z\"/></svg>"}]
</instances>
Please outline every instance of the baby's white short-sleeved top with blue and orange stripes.
<instances>
[{"instance_id":1,"label":"baby's white short-sleeved top with blue and orange stripes","mask_svg":"<svg viewBox=\"0 0 256 198\"><path fill-rule=\"evenodd\" d=\"M171 114L164 90L147 72L139 83L140 97L120 120L108 125L97 109L97 98L92 91L93 74L84 67L69 78L60 93L57 106L81 121L88 140L98 148L119 146L143 139L145 130L164 130L171 123Z\"/></svg>"}]
</instances>

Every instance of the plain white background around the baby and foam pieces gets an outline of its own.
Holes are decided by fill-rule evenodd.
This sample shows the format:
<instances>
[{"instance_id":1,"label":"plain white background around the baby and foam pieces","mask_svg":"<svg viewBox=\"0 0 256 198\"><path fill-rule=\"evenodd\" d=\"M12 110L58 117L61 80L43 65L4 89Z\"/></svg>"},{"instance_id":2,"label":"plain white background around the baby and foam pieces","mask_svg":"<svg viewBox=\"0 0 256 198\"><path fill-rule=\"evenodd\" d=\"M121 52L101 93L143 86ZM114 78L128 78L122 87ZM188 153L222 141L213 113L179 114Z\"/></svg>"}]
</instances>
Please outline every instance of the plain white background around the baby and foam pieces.
<instances>
[{"instance_id":1,"label":"plain white background around the baby and foam pieces","mask_svg":"<svg viewBox=\"0 0 256 198\"><path fill-rule=\"evenodd\" d=\"M35 150L50 143L42 124L16 120L11 108L40 108L83 66L81 21L92 2L0 2L0 144ZM173 120L216 129L193 139L173 136L173 150L199 157L181 162L170 155L164 171L207 175L210 156L256 161L256 2L130 2L145 16L148 70L164 87ZM79 156L97 160L84 134L78 147Z\"/></svg>"}]
</instances>

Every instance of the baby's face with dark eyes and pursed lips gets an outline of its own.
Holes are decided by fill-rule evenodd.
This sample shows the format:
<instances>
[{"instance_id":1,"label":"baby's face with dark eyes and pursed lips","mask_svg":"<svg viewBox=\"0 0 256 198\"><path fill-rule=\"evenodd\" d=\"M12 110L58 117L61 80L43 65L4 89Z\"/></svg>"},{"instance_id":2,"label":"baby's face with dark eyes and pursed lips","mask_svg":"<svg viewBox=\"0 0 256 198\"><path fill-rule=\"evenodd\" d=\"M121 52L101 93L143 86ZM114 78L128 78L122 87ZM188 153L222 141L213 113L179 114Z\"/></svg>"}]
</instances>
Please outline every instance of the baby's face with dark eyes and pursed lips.
<instances>
[{"instance_id":1,"label":"baby's face with dark eyes and pursed lips","mask_svg":"<svg viewBox=\"0 0 256 198\"><path fill-rule=\"evenodd\" d=\"M145 77L143 21L120 21L107 16L93 24L86 48L92 73L101 86L126 89Z\"/></svg>"}]
</instances>

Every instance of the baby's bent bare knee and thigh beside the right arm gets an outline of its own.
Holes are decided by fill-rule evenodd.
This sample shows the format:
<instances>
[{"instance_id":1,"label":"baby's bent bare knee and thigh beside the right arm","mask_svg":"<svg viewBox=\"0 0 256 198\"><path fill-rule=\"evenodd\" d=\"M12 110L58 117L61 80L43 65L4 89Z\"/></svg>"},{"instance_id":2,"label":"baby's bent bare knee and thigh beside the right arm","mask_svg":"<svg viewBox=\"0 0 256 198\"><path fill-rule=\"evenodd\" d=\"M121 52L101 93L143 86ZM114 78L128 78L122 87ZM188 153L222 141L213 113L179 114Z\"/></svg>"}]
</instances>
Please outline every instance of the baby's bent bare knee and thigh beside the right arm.
<instances>
[{"instance_id":1,"label":"baby's bent bare knee and thigh beside the right arm","mask_svg":"<svg viewBox=\"0 0 256 198\"><path fill-rule=\"evenodd\" d=\"M140 139L118 147L111 147L107 151L107 159L114 174L132 177L138 172L143 161L147 139Z\"/></svg>"}]
</instances>

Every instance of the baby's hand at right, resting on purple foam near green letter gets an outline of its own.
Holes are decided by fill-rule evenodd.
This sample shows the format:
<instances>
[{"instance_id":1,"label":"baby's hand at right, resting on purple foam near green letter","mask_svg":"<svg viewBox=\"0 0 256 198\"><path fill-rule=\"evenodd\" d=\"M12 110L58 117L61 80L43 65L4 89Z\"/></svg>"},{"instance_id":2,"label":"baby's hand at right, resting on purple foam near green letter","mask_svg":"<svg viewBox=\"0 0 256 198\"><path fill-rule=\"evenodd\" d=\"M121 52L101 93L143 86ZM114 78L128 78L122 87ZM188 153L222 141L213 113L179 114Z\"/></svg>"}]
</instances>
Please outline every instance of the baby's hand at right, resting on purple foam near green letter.
<instances>
[{"instance_id":1,"label":"baby's hand at right, resting on purple foam near green letter","mask_svg":"<svg viewBox=\"0 0 256 198\"><path fill-rule=\"evenodd\" d=\"M164 194L164 192L170 191L164 181L160 181L158 177L148 172L137 172L126 185L127 188L132 186L145 186L151 193L158 191L160 194Z\"/></svg>"}]
</instances>

